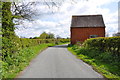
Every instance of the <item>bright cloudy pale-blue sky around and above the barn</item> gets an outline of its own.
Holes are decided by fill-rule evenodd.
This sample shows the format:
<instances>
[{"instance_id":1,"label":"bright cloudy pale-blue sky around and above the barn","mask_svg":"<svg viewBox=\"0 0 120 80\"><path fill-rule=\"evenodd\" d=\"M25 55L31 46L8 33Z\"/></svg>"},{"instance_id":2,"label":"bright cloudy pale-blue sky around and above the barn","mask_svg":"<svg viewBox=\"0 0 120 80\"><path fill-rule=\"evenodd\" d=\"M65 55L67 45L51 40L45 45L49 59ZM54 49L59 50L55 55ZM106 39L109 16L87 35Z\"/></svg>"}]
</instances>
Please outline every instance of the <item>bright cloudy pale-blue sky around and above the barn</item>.
<instances>
[{"instance_id":1,"label":"bright cloudy pale-blue sky around and above the barn","mask_svg":"<svg viewBox=\"0 0 120 80\"><path fill-rule=\"evenodd\" d=\"M34 0L32 0L34 1ZM21 37L38 37L42 32L54 33L63 38L70 37L72 15L101 14L109 36L118 32L119 0L65 0L61 6L48 8L47 5L36 4L37 15L34 21L24 21L17 25L16 34ZM24 27L23 27L24 26Z\"/></svg>"}]
</instances>

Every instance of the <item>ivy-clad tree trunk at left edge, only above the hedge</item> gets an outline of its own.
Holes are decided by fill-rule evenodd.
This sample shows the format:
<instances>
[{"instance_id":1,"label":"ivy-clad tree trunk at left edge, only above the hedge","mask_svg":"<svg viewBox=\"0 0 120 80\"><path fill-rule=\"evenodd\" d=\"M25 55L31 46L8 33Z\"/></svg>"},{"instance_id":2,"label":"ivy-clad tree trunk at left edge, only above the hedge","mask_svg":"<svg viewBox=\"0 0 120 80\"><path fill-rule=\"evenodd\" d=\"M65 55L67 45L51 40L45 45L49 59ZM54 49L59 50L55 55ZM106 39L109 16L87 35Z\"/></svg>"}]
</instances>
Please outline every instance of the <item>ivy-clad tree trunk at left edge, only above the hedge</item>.
<instances>
[{"instance_id":1,"label":"ivy-clad tree trunk at left edge, only above the hedge","mask_svg":"<svg viewBox=\"0 0 120 80\"><path fill-rule=\"evenodd\" d=\"M2 33L3 37L9 38L14 35L13 15L11 12L11 2L2 2Z\"/></svg>"}]
</instances>

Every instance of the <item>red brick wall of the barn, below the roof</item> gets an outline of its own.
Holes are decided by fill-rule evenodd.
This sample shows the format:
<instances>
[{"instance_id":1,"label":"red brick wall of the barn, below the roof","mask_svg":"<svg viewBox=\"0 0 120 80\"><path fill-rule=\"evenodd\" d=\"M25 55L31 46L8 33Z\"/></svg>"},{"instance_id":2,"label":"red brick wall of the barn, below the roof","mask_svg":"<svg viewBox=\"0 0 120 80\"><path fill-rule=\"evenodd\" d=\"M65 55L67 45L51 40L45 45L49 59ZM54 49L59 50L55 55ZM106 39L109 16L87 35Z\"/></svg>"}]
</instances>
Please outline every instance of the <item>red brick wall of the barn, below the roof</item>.
<instances>
[{"instance_id":1,"label":"red brick wall of the barn, below the roof","mask_svg":"<svg viewBox=\"0 0 120 80\"><path fill-rule=\"evenodd\" d=\"M71 27L71 44L85 41L90 35L105 37L105 27Z\"/></svg>"}]
</instances>

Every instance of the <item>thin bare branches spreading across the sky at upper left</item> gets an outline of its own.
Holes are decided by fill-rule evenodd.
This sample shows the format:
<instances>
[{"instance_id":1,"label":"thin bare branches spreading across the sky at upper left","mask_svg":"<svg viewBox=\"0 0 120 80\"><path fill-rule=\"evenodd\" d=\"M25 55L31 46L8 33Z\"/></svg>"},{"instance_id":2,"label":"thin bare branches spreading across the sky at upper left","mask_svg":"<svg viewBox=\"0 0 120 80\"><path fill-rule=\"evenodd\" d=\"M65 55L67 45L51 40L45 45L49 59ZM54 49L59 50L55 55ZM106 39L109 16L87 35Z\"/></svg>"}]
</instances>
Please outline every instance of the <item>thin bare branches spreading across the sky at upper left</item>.
<instances>
[{"instance_id":1,"label":"thin bare branches spreading across the sky at upper left","mask_svg":"<svg viewBox=\"0 0 120 80\"><path fill-rule=\"evenodd\" d=\"M43 3L43 5L48 6L48 8L53 8L53 7L59 8L59 6L61 6L62 2L64 2L64 1L65 0L62 0L59 2L54 1L54 0L49 0L49 1L44 0L44 2L39 2L39 1L35 1L35 2L26 2L26 1L12 2L11 11L12 11L13 15L17 16L15 18L27 19L27 20L31 21L32 16L40 15L40 14L37 14L37 10L34 8L36 4L41 5L41 3Z\"/></svg>"}]
</instances>

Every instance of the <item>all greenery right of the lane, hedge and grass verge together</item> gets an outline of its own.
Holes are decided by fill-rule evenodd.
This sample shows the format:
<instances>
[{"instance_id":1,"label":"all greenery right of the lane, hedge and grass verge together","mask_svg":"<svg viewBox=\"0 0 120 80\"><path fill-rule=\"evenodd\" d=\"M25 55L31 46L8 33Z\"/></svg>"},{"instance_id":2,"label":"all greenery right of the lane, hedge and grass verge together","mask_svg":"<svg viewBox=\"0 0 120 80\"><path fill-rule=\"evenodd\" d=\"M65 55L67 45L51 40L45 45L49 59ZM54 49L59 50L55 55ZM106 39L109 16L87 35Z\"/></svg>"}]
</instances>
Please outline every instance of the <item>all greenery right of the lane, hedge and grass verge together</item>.
<instances>
[{"instance_id":1,"label":"all greenery right of the lane, hedge and grass verge together","mask_svg":"<svg viewBox=\"0 0 120 80\"><path fill-rule=\"evenodd\" d=\"M120 77L120 37L91 38L69 50L107 78Z\"/></svg>"}]
</instances>

